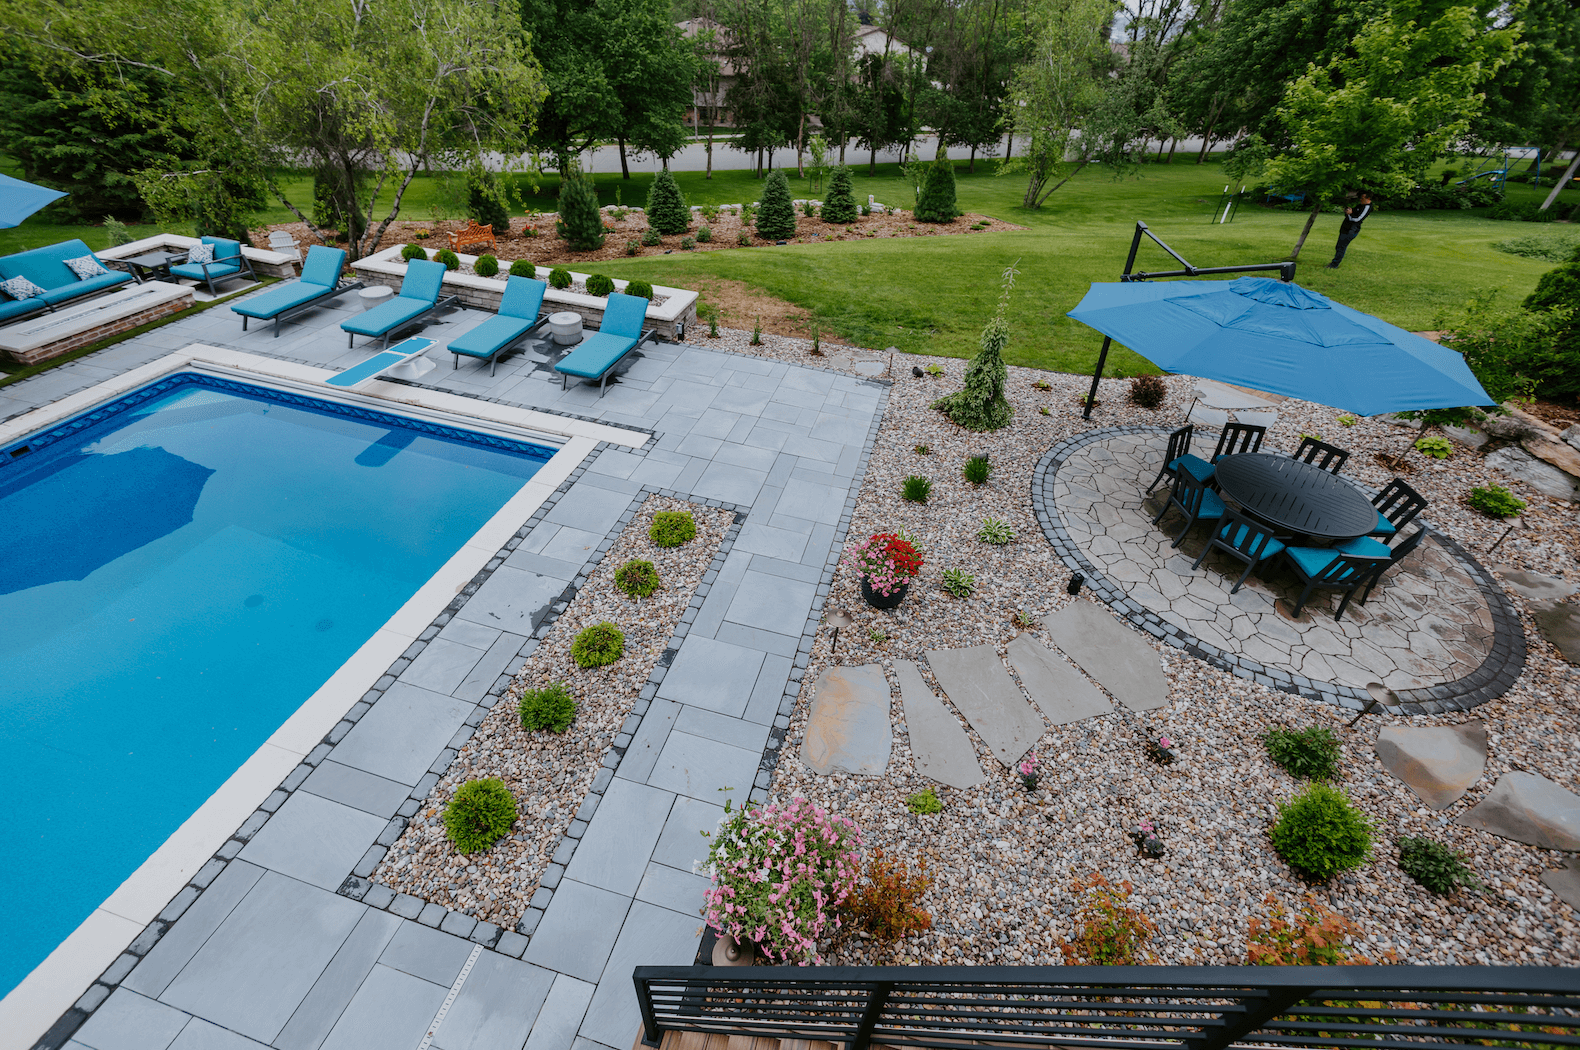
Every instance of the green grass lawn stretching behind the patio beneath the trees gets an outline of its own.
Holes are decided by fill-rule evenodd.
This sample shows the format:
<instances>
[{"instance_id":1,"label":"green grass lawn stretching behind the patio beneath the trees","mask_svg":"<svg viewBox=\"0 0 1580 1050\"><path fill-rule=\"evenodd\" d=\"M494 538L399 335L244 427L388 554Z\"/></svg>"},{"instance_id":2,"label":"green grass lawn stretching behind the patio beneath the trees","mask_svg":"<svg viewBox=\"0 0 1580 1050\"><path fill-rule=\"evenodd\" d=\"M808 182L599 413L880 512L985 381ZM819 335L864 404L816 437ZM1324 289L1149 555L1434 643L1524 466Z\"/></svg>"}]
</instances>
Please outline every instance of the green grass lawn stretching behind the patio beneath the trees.
<instances>
[{"instance_id":1,"label":"green grass lawn stretching behind the patio beneath the trees","mask_svg":"<svg viewBox=\"0 0 1580 1050\"><path fill-rule=\"evenodd\" d=\"M848 159L860 158L852 155ZM962 357L975 352L978 333L994 309L999 273L1018 262L1021 278L1011 300L1006 358L1057 371L1090 369L1101 338L1065 313L1079 302L1089 283L1119 278L1136 219L1144 219L1196 265L1283 259L1305 221L1297 212L1247 207L1232 224L1210 224L1209 215L1226 182L1221 166L1176 159L1174 164L1149 164L1141 178L1119 182L1089 169L1038 212L1021 207L1021 177L994 175L991 161L978 161L976 174L967 175L961 164L961 207L1027 226L1025 231L675 253L621 259L597 268L610 276L641 276L679 287L709 276L738 279L807 309L825 330L853 343ZM866 164L855 171L858 199L874 194L882 202L908 207L910 186L899 178L894 164L880 164L877 177L866 174ZM626 205L640 205L651 178L599 175L599 197L615 204L618 196ZM763 185L744 171L714 172L711 180L702 172L676 172L676 178L692 204L754 201ZM534 194L531 180L518 177L526 210L551 210L558 182L553 175L539 177ZM434 185L427 177L414 180L401 218L431 218ZM815 196L806 180L792 178L790 186L798 197ZM292 201L310 197L305 177L284 180L284 188ZM1509 185L1515 201L1539 201L1545 193ZM1563 201L1580 201L1580 191L1566 189ZM291 218L276 204L258 221ZM1335 272L1322 267L1332 254L1338 216L1324 215L1302 253L1297 279L1405 328L1427 330L1439 316L1455 313L1476 289L1501 287L1510 302L1529 292L1552 264L1510 256L1492 245L1556 229L1492 221L1482 210L1378 212L1351 246L1345 267ZM153 226L133 227L137 235L155 231ZM0 231L0 254L68 237L81 237L90 248L107 245L101 227L30 221ZM1136 261L1139 270L1172 265L1150 242ZM1150 371L1128 351L1112 354L1109 362L1125 374Z\"/></svg>"}]
</instances>

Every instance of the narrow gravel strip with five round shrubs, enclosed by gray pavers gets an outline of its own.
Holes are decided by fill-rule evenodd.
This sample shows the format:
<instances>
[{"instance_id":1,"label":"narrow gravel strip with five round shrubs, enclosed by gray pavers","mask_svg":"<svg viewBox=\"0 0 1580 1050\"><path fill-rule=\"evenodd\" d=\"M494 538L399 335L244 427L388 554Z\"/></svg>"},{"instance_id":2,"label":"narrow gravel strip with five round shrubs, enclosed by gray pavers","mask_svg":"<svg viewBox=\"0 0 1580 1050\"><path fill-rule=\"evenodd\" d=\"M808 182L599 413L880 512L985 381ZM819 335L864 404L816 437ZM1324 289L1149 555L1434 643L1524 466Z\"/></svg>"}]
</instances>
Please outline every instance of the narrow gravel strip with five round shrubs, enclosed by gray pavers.
<instances>
[{"instance_id":1,"label":"narrow gravel strip with five round shrubs, enclosed by gray pavers","mask_svg":"<svg viewBox=\"0 0 1580 1050\"><path fill-rule=\"evenodd\" d=\"M697 535L675 548L648 540L653 515L690 510ZM713 562L733 512L651 496L599 562L586 584L528 657L477 733L434 785L427 804L395 842L373 879L477 919L510 928L526 913L544 868L572 815L586 797L604 753L664 654L697 584ZM653 562L664 581L635 600L615 587L630 559ZM570 658L577 633L610 621L626 635L626 654L602 668ZM577 696L577 718L564 734L529 733L517 711L525 690L562 681ZM463 856L444 837L444 807L468 780L499 777L515 794L520 819L491 849Z\"/></svg>"}]
</instances>

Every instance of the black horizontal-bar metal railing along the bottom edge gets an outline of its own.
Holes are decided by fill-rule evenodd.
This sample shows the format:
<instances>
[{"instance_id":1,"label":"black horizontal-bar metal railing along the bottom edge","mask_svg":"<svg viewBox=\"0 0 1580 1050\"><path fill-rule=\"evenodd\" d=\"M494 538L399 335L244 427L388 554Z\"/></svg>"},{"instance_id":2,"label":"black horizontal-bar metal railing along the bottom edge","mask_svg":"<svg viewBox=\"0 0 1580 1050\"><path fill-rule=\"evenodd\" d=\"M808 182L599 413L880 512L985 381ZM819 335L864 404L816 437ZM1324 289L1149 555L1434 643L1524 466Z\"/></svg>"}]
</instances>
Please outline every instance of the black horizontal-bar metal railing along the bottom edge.
<instances>
[{"instance_id":1,"label":"black horizontal-bar metal railing along the bottom edge","mask_svg":"<svg viewBox=\"0 0 1580 1050\"><path fill-rule=\"evenodd\" d=\"M1580 969L1550 966L637 966L665 1031L848 1050L1580 1047Z\"/></svg>"}]
</instances>

